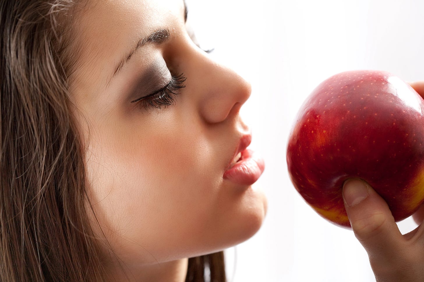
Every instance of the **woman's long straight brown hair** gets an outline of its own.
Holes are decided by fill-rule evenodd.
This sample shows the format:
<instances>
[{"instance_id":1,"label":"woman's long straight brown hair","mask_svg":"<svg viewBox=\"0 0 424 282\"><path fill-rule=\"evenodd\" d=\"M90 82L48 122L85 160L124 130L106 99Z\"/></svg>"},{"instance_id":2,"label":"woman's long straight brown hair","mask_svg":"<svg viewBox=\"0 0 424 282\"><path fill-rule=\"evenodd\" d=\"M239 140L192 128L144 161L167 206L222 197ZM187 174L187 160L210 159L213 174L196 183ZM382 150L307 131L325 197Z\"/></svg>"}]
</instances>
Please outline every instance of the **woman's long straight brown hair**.
<instances>
[{"instance_id":1,"label":"woman's long straight brown hair","mask_svg":"<svg viewBox=\"0 0 424 282\"><path fill-rule=\"evenodd\" d=\"M0 0L1 281L106 281L68 99L74 6ZM224 282L223 253L190 258L186 281Z\"/></svg>"}]
</instances>

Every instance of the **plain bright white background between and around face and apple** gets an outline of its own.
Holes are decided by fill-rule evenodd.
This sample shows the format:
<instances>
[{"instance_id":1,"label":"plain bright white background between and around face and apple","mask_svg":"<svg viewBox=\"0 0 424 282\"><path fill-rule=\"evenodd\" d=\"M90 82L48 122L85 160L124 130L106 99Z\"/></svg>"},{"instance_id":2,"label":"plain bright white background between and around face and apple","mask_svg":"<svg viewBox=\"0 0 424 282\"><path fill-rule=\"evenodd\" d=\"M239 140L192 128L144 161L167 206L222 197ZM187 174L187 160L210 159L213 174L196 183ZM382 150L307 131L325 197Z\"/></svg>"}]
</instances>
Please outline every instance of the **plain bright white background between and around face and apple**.
<instances>
[{"instance_id":1,"label":"plain bright white background between and around face and apple","mask_svg":"<svg viewBox=\"0 0 424 282\"><path fill-rule=\"evenodd\" d=\"M242 109L251 147L265 157L257 182L268 215L250 240L226 251L231 282L375 281L353 232L318 216L291 184L285 160L301 103L322 80L380 69L424 80L422 0L187 0L204 48L252 84ZM416 227L399 223L402 233Z\"/></svg>"}]
</instances>

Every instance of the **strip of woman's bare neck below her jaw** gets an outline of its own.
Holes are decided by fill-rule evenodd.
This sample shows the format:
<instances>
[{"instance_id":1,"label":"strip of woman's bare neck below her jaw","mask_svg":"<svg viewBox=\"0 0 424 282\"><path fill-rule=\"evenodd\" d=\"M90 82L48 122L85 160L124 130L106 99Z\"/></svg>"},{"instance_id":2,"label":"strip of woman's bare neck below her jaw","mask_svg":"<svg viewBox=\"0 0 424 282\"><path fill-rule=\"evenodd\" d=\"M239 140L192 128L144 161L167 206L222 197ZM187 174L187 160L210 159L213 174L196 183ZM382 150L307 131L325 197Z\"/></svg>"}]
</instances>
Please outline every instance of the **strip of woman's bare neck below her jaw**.
<instances>
[{"instance_id":1,"label":"strip of woman's bare neck below her jaw","mask_svg":"<svg viewBox=\"0 0 424 282\"><path fill-rule=\"evenodd\" d=\"M142 265L131 268L127 265L112 269L111 281L116 282L184 282L187 276L188 259Z\"/></svg>"}]
</instances>

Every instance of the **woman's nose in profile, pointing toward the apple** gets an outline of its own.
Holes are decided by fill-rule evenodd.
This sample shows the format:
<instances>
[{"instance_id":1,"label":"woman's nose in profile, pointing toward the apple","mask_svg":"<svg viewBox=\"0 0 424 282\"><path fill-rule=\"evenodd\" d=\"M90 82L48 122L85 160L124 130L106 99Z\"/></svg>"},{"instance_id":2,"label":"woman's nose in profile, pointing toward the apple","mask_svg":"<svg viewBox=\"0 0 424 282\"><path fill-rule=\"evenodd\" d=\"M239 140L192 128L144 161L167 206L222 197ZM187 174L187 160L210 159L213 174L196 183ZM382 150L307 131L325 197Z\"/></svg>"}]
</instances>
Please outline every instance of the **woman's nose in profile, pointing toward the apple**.
<instances>
[{"instance_id":1,"label":"woman's nose in profile, pointing toward the apple","mask_svg":"<svg viewBox=\"0 0 424 282\"><path fill-rule=\"evenodd\" d=\"M198 72L199 112L208 123L219 123L240 111L251 94L251 85L232 69L215 63L211 58L202 60Z\"/></svg>"}]
</instances>

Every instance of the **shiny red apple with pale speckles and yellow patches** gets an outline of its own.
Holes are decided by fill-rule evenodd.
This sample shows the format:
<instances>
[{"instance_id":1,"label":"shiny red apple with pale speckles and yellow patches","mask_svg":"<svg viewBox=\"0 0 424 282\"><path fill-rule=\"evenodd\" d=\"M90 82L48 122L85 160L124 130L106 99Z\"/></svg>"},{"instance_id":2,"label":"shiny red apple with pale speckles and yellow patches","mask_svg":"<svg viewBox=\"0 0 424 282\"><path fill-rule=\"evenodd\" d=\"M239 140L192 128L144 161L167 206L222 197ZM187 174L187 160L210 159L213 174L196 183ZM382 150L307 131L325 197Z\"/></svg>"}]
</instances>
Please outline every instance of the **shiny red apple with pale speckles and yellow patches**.
<instances>
[{"instance_id":1,"label":"shiny red apple with pale speckles and yellow patches","mask_svg":"<svg viewBox=\"0 0 424 282\"><path fill-rule=\"evenodd\" d=\"M360 178L395 221L424 201L424 100L398 77L350 71L322 82L301 106L287 144L296 190L317 213L350 227L343 182Z\"/></svg>"}]
</instances>

